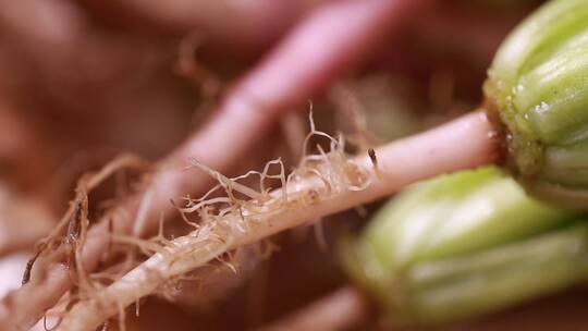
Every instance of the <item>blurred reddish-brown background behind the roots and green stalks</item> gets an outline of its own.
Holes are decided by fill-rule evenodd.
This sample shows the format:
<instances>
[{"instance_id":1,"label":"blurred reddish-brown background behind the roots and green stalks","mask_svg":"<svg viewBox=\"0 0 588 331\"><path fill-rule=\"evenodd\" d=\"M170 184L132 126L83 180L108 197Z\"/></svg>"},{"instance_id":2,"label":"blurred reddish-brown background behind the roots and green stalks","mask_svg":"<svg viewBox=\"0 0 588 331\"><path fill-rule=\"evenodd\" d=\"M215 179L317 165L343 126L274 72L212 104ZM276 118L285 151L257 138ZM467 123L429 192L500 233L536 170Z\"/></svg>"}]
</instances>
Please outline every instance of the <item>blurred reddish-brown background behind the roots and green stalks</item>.
<instances>
[{"instance_id":1,"label":"blurred reddish-brown background behind the roots and green stalks","mask_svg":"<svg viewBox=\"0 0 588 331\"><path fill-rule=\"evenodd\" d=\"M122 152L154 162L170 154L284 36L330 2L1 0L0 293L20 285L36 241L65 211L83 173ZM431 0L408 12L313 90L317 127L355 137L365 123L362 137L376 145L475 109L495 49L540 3ZM308 99L294 108L229 174L277 157L297 162ZM96 195L112 187L102 191ZM149 297L138 318L128 315L128 330L255 329L304 307L346 282L333 243L377 207L323 220L327 245L313 228L272 237L279 248L244 268L230 295L196 303L194 293L175 303ZM581 324L578 303L586 297L579 289L440 330L580 330L573 326ZM378 328L377 317L358 327Z\"/></svg>"}]
</instances>

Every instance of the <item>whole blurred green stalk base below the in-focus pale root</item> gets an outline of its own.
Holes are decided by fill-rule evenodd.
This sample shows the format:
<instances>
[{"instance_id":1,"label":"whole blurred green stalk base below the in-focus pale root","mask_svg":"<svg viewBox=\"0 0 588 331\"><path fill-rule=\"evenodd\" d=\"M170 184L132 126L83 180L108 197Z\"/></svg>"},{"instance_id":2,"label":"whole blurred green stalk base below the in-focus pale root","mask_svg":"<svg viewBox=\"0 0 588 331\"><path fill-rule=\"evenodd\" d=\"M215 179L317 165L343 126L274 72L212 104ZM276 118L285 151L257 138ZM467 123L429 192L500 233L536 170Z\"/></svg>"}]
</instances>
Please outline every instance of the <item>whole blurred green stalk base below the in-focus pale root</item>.
<instances>
[{"instance_id":1,"label":"whole blurred green stalk base below the in-focus pale root","mask_svg":"<svg viewBox=\"0 0 588 331\"><path fill-rule=\"evenodd\" d=\"M573 211L527 196L495 168L485 168L443 175L401 193L375 216L360 237L345 241L342 258L351 277L391 311L393 320L452 320L547 291L547 284L528 280L530 270L549 263L556 272L558 263L575 263L578 257L566 255L558 245L528 244L544 249L525 250L513 243L561 228L574 218ZM529 252L546 259L535 261ZM563 273L553 275L549 286L575 279ZM584 277L584 271L579 274ZM474 286L471 282L480 279L488 283ZM529 282L525 293L516 289L518 280ZM493 286L502 286L502 292L492 294ZM510 290L513 294L506 295Z\"/></svg>"}]
</instances>

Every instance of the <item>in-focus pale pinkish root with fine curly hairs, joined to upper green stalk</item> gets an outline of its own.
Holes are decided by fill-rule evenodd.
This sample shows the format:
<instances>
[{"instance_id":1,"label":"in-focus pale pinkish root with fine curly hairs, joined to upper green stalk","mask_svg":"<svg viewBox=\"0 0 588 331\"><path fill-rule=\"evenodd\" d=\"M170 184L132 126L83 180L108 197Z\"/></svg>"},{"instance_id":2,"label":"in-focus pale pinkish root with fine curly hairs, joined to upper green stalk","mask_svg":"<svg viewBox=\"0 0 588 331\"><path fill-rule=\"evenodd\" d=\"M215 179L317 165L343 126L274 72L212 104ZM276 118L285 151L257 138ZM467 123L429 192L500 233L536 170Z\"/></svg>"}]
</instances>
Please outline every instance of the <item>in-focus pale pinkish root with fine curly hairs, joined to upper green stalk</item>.
<instances>
[{"instance_id":1,"label":"in-focus pale pinkish root with fine curly hairs, joined to upper green stalk","mask_svg":"<svg viewBox=\"0 0 588 331\"><path fill-rule=\"evenodd\" d=\"M378 148L375 154L380 176L375 175L367 155L352 159L345 155L341 139L328 137L331 145L328 152L318 148L318 154L305 156L301 166L287 175L285 185L272 191L264 186L259 191L245 188L195 163L219 180L226 192L224 200L188 203L184 212L199 216L193 221L195 231L171 241L94 297L74 305L59 330L94 330L115 315L118 307L155 293L168 280L243 245L387 196L440 172L489 163L495 157L494 143L488 136L490 131L486 117L474 113ZM322 135L316 131L313 134ZM469 143L461 144L464 140ZM274 176L283 179L283 171Z\"/></svg>"}]
</instances>

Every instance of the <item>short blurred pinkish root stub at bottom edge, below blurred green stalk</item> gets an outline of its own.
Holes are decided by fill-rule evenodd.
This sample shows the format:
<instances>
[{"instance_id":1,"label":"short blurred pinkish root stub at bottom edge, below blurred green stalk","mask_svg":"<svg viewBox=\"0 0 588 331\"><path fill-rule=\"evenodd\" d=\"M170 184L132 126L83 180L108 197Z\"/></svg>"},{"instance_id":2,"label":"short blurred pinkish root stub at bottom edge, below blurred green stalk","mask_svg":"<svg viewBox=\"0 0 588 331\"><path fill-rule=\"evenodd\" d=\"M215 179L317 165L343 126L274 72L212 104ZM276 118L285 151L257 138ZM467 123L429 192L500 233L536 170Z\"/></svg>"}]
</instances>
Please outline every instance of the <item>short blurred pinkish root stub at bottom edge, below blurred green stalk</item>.
<instances>
[{"instance_id":1,"label":"short blurred pinkish root stub at bottom edge, below blurred green stalk","mask_svg":"<svg viewBox=\"0 0 588 331\"><path fill-rule=\"evenodd\" d=\"M368 314L368 299L355 287L346 286L258 331L348 330Z\"/></svg>"}]
</instances>

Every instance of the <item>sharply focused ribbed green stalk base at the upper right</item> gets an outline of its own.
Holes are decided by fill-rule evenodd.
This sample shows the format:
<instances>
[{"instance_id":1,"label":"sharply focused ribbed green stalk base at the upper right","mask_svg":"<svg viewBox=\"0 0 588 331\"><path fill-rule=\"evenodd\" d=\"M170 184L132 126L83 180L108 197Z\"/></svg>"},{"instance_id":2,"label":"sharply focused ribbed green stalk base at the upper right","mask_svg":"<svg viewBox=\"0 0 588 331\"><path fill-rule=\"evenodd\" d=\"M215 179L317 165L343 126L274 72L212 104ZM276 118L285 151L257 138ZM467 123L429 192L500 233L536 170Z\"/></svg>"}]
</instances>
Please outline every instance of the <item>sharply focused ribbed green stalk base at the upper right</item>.
<instances>
[{"instance_id":1,"label":"sharply focused ribbed green stalk base at the upper right","mask_svg":"<svg viewBox=\"0 0 588 331\"><path fill-rule=\"evenodd\" d=\"M588 206L588 1L554 0L525 20L499 49L485 93L525 187Z\"/></svg>"}]
</instances>

